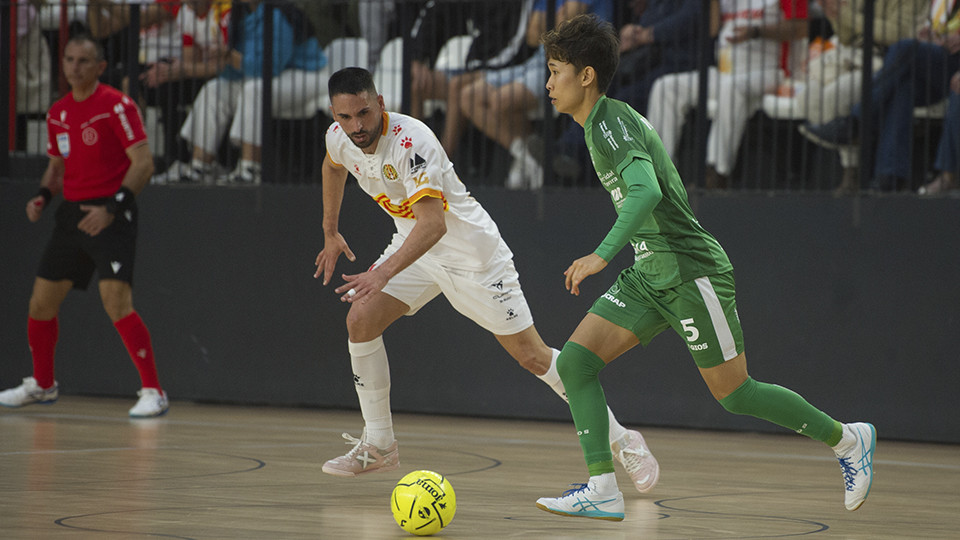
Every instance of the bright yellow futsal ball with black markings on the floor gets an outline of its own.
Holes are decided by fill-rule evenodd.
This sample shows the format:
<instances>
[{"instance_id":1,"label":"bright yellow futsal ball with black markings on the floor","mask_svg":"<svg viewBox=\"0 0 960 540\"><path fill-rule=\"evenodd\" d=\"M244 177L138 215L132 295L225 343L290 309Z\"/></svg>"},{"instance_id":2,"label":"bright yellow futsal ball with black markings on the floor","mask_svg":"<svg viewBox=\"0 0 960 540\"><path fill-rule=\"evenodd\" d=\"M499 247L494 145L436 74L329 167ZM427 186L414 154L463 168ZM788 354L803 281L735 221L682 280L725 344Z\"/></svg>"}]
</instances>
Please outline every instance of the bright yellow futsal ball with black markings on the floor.
<instances>
[{"instance_id":1,"label":"bright yellow futsal ball with black markings on the floor","mask_svg":"<svg viewBox=\"0 0 960 540\"><path fill-rule=\"evenodd\" d=\"M426 536L450 524L457 511L457 496L443 476L433 471L413 471L393 488L390 509L401 529Z\"/></svg>"}]
</instances>

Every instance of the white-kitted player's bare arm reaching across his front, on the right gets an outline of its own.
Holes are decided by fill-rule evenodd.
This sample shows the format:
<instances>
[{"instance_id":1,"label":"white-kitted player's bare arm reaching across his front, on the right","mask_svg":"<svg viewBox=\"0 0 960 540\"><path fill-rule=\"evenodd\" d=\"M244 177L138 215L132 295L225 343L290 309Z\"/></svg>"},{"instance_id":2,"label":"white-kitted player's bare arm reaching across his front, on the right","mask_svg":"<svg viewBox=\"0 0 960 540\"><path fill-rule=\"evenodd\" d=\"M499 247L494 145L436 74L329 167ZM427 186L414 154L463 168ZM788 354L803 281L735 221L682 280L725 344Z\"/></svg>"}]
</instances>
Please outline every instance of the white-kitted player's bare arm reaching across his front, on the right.
<instances>
[{"instance_id":1,"label":"white-kitted player's bare arm reaching across his front, on the right","mask_svg":"<svg viewBox=\"0 0 960 540\"><path fill-rule=\"evenodd\" d=\"M423 256L447 233L443 215L443 199L424 196L410 207L417 223L403 241L403 245L379 266L361 274L344 275L345 284L337 287L336 292L343 294L340 300L356 302L370 294L379 292L390 278ZM347 291L353 290L352 296Z\"/></svg>"}]
</instances>

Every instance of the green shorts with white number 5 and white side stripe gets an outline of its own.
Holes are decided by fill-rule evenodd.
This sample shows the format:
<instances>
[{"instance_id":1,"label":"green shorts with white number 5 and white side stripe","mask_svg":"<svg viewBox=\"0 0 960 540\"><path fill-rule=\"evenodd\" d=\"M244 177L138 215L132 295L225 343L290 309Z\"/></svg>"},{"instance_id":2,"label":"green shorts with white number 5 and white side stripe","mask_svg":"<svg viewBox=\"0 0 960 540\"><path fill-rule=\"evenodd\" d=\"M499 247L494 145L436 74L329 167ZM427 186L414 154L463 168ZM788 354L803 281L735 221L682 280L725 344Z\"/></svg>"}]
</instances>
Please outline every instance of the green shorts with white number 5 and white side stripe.
<instances>
[{"instance_id":1,"label":"green shorts with white number 5 and white side stripe","mask_svg":"<svg viewBox=\"0 0 960 540\"><path fill-rule=\"evenodd\" d=\"M656 290L631 266L620 272L590 313L630 330L644 346L672 327L697 366L709 368L743 352L735 288L733 272L727 272Z\"/></svg>"}]
</instances>

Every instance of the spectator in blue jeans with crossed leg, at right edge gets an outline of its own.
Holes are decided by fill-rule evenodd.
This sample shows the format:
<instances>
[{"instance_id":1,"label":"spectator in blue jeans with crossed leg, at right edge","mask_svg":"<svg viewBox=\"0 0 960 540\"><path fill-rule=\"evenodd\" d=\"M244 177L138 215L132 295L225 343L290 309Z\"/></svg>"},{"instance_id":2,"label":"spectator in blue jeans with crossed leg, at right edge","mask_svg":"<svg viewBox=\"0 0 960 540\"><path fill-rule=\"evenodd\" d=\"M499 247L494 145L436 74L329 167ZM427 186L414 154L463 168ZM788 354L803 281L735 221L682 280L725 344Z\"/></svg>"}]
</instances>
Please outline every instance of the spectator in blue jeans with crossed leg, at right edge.
<instances>
[{"instance_id":1,"label":"spectator in blue jeans with crossed leg, at right edge","mask_svg":"<svg viewBox=\"0 0 960 540\"><path fill-rule=\"evenodd\" d=\"M870 95L877 135L870 189L894 191L911 183L913 109L939 103L950 76L960 67L960 2L933 0L916 39L893 44L873 78ZM825 124L804 124L800 132L825 148L853 150L860 134L861 108Z\"/></svg>"}]
</instances>

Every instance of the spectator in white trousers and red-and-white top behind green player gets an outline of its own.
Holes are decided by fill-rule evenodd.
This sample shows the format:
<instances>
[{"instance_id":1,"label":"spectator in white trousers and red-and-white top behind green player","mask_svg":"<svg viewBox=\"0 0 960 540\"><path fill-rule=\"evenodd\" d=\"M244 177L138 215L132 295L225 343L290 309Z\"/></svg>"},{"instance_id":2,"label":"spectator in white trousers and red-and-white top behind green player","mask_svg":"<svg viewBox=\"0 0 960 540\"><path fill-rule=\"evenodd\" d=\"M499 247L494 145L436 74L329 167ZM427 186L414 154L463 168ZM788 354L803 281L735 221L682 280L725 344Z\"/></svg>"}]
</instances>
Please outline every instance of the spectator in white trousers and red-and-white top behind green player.
<instances>
[{"instance_id":1,"label":"spectator in white trousers and red-and-white top behind green player","mask_svg":"<svg viewBox=\"0 0 960 540\"><path fill-rule=\"evenodd\" d=\"M807 36L806 0L720 0L717 66L707 87L716 102L707 139L707 188L726 188L740 139L765 93L789 74L791 42ZM677 160L683 120L698 99L697 71L665 75L650 92L647 118Z\"/></svg>"}]
</instances>

